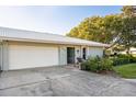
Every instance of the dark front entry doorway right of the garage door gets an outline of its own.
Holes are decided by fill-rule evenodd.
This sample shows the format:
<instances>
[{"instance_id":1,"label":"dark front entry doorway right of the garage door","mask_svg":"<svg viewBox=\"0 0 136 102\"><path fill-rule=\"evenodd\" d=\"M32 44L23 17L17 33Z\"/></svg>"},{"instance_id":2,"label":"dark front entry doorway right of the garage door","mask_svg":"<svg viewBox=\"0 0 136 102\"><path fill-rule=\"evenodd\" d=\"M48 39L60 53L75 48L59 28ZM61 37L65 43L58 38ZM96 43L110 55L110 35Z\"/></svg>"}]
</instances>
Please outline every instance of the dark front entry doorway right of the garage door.
<instances>
[{"instance_id":1,"label":"dark front entry doorway right of the garage door","mask_svg":"<svg viewBox=\"0 0 136 102\"><path fill-rule=\"evenodd\" d=\"M75 47L67 47L67 64L75 64Z\"/></svg>"}]
</instances>

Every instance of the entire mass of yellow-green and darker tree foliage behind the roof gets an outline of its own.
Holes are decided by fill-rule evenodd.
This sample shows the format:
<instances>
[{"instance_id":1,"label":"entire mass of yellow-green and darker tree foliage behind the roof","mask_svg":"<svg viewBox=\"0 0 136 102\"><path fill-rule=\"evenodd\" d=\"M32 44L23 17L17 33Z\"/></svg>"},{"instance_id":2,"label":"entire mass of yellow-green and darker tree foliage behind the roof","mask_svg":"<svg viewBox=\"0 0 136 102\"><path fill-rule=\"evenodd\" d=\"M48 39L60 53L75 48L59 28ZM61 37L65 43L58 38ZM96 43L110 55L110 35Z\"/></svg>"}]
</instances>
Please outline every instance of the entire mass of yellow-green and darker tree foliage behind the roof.
<instances>
[{"instance_id":1,"label":"entire mass of yellow-green and darker tree foliage behind the roof","mask_svg":"<svg viewBox=\"0 0 136 102\"><path fill-rule=\"evenodd\" d=\"M71 29L67 36L95 41L106 44L120 44L129 49L136 46L136 15L133 7L125 5L122 13L84 19Z\"/></svg>"}]
</instances>

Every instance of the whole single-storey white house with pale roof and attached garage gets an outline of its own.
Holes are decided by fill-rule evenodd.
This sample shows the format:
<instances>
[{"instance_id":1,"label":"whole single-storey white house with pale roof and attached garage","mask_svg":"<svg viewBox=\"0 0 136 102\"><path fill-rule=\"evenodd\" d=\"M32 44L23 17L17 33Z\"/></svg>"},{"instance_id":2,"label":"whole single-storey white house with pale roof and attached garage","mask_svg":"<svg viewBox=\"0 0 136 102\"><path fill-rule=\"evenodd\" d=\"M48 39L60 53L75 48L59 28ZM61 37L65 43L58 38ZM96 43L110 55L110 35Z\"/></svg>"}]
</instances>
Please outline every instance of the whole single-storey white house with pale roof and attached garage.
<instances>
[{"instance_id":1,"label":"whole single-storey white house with pale roof and attached garage","mask_svg":"<svg viewBox=\"0 0 136 102\"><path fill-rule=\"evenodd\" d=\"M0 27L0 68L15 70L77 63L103 56L109 45L33 31Z\"/></svg>"}]
</instances>

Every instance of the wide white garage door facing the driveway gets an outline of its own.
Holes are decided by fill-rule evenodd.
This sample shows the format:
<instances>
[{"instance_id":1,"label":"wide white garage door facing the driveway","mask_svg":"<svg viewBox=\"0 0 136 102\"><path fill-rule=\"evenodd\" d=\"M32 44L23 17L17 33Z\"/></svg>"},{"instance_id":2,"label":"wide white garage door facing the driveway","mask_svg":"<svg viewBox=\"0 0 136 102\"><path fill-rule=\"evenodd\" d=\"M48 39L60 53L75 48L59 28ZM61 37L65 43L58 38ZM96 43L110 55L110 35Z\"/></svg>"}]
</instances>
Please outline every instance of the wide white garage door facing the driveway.
<instances>
[{"instance_id":1,"label":"wide white garage door facing the driveway","mask_svg":"<svg viewBox=\"0 0 136 102\"><path fill-rule=\"evenodd\" d=\"M9 69L58 65L58 47L9 45Z\"/></svg>"}]
</instances>

